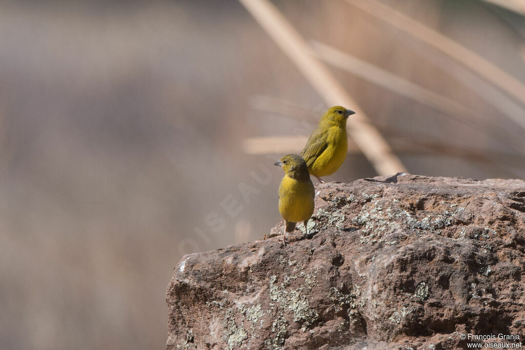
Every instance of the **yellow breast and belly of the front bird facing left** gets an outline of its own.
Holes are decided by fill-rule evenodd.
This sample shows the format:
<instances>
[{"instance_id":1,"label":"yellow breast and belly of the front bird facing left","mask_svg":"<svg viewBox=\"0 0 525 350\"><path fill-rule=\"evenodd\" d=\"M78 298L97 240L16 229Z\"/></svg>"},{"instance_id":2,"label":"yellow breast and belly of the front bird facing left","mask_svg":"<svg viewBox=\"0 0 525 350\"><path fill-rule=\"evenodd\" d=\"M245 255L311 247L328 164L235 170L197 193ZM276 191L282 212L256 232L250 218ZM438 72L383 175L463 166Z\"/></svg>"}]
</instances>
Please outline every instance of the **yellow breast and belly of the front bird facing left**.
<instances>
[{"instance_id":1,"label":"yellow breast and belly of the front bird facing left","mask_svg":"<svg viewBox=\"0 0 525 350\"><path fill-rule=\"evenodd\" d=\"M311 181L283 177L279 186L279 213L282 218L289 222L310 219L313 214L314 195Z\"/></svg>"}]
</instances>

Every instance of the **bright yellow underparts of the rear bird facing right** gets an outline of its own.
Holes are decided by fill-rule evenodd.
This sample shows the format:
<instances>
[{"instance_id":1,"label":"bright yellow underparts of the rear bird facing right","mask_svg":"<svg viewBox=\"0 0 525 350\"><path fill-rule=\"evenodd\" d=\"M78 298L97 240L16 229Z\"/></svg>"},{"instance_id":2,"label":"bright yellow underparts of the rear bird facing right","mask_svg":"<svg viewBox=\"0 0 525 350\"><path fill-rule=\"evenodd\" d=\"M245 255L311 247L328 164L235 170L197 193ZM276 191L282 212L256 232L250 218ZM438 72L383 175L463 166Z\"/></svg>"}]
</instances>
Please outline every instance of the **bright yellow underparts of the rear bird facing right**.
<instances>
[{"instance_id":1,"label":"bright yellow underparts of the rear bird facing right","mask_svg":"<svg viewBox=\"0 0 525 350\"><path fill-rule=\"evenodd\" d=\"M343 164L348 152L346 129L332 126L328 130L328 146L310 165L310 174L317 176L332 175Z\"/></svg>"}]
</instances>

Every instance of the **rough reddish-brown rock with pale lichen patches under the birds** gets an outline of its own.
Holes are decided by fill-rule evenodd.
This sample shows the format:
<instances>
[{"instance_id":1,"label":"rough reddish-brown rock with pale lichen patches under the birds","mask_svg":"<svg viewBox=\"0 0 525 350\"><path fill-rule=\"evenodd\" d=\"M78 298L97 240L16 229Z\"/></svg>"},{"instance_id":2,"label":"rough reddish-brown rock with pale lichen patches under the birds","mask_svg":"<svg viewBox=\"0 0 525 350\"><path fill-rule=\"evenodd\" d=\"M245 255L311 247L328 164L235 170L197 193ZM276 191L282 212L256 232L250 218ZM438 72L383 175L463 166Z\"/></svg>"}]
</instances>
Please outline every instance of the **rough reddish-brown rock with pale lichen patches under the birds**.
<instances>
[{"instance_id":1,"label":"rough reddish-brown rock with pale lichen patches under the birds","mask_svg":"<svg viewBox=\"0 0 525 350\"><path fill-rule=\"evenodd\" d=\"M167 348L465 348L462 333L523 344L524 181L397 174L316 194L308 237L301 224L286 247L183 257Z\"/></svg>"}]
</instances>

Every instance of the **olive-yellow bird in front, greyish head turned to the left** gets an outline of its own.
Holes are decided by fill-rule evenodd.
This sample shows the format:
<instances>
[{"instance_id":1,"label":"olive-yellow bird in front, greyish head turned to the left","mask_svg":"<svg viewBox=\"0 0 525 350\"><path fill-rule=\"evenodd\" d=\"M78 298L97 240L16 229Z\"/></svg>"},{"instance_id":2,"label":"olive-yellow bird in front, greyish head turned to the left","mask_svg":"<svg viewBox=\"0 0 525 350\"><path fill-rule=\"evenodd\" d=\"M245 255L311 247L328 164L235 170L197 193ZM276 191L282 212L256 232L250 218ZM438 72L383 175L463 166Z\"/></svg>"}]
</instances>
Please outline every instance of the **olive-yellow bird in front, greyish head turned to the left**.
<instances>
[{"instance_id":1,"label":"olive-yellow bird in front, greyish head turned to the left","mask_svg":"<svg viewBox=\"0 0 525 350\"><path fill-rule=\"evenodd\" d=\"M297 154L288 154L274 165L279 165L285 171L279 186L279 213L285 219L286 227L282 240L286 246L286 232L295 230L296 223L304 222L307 230L308 220L313 214L313 184L308 173L308 167L303 158ZM308 235L308 230L306 231Z\"/></svg>"}]
</instances>

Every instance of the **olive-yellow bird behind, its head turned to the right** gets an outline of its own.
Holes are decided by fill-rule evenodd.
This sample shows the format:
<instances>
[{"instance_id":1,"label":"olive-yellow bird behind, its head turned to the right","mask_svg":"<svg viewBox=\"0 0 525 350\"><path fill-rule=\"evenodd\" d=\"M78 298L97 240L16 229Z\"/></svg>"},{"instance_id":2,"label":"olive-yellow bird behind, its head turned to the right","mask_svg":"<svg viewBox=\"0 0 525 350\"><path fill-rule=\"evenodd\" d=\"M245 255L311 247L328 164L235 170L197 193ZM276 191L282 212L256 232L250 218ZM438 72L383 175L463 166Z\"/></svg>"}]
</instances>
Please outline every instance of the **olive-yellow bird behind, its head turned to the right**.
<instances>
[{"instance_id":1,"label":"olive-yellow bird behind, its head turned to the right","mask_svg":"<svg viewBox=\"0 0 525 350\"><path fill-rule=\"evenodd\" d=\"M335 106L324 112L319 125L308 138L301 157L306 161L308 171L320 183L321 176L332 175L346 158L348 139L346 120L354 111Z\"/></svg>"}]
</instances>

